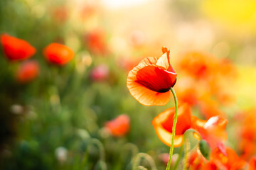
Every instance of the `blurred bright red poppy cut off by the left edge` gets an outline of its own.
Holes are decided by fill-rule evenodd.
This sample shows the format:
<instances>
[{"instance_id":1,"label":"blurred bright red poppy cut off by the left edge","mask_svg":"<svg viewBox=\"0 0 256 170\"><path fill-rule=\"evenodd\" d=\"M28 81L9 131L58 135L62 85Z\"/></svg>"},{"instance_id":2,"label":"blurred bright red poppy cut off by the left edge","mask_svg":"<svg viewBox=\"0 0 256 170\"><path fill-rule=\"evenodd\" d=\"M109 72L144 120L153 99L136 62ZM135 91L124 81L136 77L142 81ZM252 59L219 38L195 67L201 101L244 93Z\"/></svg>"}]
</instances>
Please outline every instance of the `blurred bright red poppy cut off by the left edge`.
<instances>
[{"instance_id":1,"label":"blurred bright red poppy cut off by the left edge","mask_svg":"<svg viewBox=\"0 0 256 170\"><path fill-rule=\"evenodd\" d=\"M26 60L36 53L36 48L25 40L5 33L1 35L1 44L3 45L6 57L11 61Z\"/></svg>"}]
</instances>

